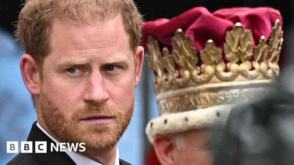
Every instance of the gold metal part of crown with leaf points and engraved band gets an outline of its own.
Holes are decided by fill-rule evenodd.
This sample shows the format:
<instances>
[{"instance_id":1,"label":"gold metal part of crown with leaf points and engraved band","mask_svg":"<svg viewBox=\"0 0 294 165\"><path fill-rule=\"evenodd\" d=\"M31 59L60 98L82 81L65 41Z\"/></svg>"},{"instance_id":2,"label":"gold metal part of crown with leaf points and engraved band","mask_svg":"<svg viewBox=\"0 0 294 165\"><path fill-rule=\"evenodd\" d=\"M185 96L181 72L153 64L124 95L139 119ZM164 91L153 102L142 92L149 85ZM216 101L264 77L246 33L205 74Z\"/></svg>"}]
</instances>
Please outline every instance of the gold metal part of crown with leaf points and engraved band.
<instances>
[{"instance_id":1,"label":"gold metal part of crown with leaf points and engraved band","mask_svg":"<svg viewBox=\"0 0 294 165\"><path fill-rule=\"evenodd\" d=\"M158 41L149 36L147 57L154 75L159 114L263 99L279 75L278 60L283 43L279 20L272 27L268 44L261 36L253 52L252 40L252 32L236 23L233 30L226 33L224 56L222 50L208 40L200 52L203 64L197 66L201 61L192 38L184 36L181 29L171 39L172 54L166 47L161 52ZM222 62L223 57L230 62Z\"/></svg>"}]
</instances>

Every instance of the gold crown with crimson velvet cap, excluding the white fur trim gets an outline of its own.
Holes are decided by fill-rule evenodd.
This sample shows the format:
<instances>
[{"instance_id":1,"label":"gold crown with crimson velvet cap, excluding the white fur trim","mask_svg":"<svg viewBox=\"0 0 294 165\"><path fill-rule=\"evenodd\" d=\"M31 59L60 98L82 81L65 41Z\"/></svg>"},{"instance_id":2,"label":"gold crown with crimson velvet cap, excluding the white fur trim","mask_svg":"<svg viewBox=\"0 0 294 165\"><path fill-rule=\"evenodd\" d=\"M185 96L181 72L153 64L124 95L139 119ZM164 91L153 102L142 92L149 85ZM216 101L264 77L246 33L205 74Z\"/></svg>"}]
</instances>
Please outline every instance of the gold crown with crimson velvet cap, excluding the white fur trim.
<instances>
[{"instance_id":1,"label":"gold crown with crimson velvet cap, excluding the white fur trim","mask_svg":"<svg viewBox=\"0 0 294 165\"><path fill-rule=\"evenodd\" d=\"M282 17L269 7L196 7L143 25L159 114L261 100L279 74ZM162 73L159 73L162 72Z\"/></svg>"}]
</instances>

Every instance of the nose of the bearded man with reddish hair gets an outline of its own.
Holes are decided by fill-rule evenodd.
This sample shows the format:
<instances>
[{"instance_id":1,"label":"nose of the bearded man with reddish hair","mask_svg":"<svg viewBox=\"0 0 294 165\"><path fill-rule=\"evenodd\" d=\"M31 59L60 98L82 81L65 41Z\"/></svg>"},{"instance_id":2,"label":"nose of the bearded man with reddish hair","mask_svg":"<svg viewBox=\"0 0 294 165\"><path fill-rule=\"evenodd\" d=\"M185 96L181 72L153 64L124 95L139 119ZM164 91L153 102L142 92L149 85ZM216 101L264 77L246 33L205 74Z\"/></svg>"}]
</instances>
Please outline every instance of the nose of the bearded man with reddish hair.
<instances>
[{"instance_id":1,"label":"nose of the bearded man with reddish hair","mask_svg":"<svg viewBox=\"0 0 294 165\"><path fill-rule=\"evenodd\" d=\"M109 98L103 77L100 72L92 73L88 78L88 84L84 99L100 105Z\"/></svg>"}]
</instances>

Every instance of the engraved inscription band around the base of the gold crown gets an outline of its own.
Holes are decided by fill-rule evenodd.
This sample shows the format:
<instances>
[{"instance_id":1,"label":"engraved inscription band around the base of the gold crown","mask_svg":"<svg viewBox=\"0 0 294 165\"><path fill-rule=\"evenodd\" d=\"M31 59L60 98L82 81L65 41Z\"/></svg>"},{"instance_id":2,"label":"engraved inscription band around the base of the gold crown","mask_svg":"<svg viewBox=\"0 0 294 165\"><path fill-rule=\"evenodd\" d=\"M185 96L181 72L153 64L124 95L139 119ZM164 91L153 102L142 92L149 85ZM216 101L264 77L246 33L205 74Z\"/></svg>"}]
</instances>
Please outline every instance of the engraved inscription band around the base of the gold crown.
<instances>
[{"instance_id":1,"label":"engraved inscription band around the base of the gold crown","mask_svg":"<svg viewBox=\"0 0 294 165\"><path fill-rule=\"evenodd\" d=\"M232 105L240 102L259 101L272 92L269 88L253 88L245 90L223 90L218 92L203 92L183 97L173 97L158 102L158 112L176 113L216 105Z\"/></svg>"}]
</instances>

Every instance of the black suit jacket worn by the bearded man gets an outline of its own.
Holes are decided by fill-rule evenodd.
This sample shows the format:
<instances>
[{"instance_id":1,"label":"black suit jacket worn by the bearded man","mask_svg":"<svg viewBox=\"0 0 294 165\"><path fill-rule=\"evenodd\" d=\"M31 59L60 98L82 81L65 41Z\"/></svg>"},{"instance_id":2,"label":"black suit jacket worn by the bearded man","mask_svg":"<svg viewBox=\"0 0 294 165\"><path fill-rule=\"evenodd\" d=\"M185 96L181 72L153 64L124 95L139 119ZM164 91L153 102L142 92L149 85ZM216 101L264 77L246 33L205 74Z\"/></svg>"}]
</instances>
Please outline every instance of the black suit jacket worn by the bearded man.
<instances>
[{"instance_id":1,"label":"black suit jacket worn by the bearded man","mask_svg":"<svg viewBox=\"0 0 294 165\"><path fill-rule=\"evenodd\" d=\"M33 153L19 153L7 165L75 165L65 152L57 152L54 149L50 151L50 144L54 141L39 129L37 122L33 123L27 141L33 142ZM36 141L47 142L47 153L34 153ZM121 159L119 159L119 164L131 165Z\"/></svg>"}]
</instances>

